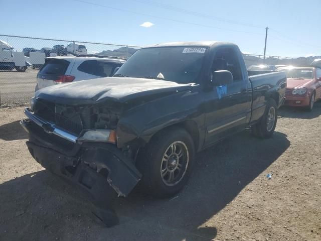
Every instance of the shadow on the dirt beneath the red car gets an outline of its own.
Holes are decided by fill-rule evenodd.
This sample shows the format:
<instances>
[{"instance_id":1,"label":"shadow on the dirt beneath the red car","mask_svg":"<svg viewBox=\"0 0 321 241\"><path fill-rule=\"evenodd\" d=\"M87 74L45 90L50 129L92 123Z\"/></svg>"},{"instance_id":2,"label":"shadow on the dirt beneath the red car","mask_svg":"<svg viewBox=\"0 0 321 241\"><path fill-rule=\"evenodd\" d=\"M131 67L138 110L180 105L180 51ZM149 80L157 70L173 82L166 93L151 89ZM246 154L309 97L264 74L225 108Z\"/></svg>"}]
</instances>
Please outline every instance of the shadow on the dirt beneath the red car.
<instances>
[{"instance_id":1,"label":"shadow on the dirt beneath the red car","mask_svg":"<svg viewBox=\"0 0 321 241\"><path fill-rule=\"evenodd\" d=\"M300 119L313 119L321 115L321 101L314 103L311 112L306 111L304 108L282 106L279 108L279 116L287 118L300 118Z\"/></svg>"}]
</instances>

